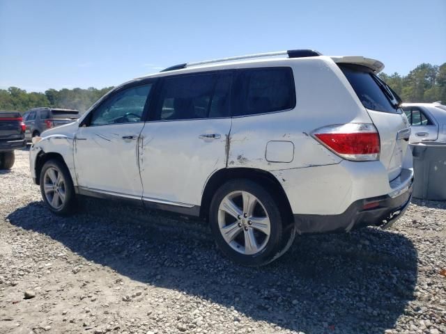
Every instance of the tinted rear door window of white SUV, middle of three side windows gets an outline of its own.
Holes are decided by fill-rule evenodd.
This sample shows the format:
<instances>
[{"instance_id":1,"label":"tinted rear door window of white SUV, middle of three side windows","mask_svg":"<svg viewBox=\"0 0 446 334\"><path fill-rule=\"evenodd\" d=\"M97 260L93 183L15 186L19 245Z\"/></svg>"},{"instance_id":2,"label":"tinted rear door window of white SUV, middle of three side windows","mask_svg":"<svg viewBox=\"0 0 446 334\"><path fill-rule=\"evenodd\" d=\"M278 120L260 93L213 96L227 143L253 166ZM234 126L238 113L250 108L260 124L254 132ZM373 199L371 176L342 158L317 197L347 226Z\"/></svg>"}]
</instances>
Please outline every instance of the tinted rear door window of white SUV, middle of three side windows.
<instances>
[{"instance_id":1,"label":"tinted rear door window of white SUV, middle of three side windows","mask_svg":"<svg viewBox=\"0 0 446 334\"><path fill-rule=\"evenodd\" d=\"M157 106L158 120L229 116L231 74L167 77Z\"/></svg>"}]
</instances>

